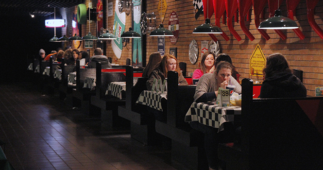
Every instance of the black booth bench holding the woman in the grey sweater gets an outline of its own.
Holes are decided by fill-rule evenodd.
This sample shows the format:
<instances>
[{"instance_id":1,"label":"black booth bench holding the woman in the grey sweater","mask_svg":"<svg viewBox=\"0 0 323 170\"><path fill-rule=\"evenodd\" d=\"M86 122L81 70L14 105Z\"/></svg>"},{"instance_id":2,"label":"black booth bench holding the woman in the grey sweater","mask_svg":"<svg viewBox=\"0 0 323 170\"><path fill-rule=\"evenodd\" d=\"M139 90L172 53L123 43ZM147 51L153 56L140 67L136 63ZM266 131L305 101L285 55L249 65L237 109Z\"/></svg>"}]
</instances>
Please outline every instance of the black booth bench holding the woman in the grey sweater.
<instances>
[{"instance_id":1,"label":"black booth bench holding the woman in the grey sweater","mask_svg":"<svg viewBox=\"0 0 323 170\"><path fill-rule=\"evenodd\" d=\"M194 101L196 85L178 85L178 73L168 72L167 121L156 120L156 132L171 139L173 166L190 170L207 170L204 134L192 129L185 122L185 115ZM179 166L176 166L179 165Z\"/></svg>"}]
</instances>

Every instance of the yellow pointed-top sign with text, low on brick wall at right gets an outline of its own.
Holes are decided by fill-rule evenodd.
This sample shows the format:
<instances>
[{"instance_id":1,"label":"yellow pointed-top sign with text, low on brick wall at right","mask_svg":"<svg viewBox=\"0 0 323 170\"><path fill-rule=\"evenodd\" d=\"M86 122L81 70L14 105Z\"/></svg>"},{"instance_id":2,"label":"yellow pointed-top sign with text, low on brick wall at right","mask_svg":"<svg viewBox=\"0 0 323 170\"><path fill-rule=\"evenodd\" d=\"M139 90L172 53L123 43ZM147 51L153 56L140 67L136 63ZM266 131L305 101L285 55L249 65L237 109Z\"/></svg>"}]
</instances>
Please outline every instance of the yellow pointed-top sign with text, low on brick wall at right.
<instances>
[{"instance_id":1,"label":"yellow pointed-top sign with text, low on brick wall at right","mask_svg":"<svg viewBox=\"0 0 323 170\"><path fill-rule=\"evenodd\" d=\"M255 51L250 57L250 75L262 76L262 69L266 66L266 58L262 52L259 44L255 48Z\"/></svg>"}]
</instances>

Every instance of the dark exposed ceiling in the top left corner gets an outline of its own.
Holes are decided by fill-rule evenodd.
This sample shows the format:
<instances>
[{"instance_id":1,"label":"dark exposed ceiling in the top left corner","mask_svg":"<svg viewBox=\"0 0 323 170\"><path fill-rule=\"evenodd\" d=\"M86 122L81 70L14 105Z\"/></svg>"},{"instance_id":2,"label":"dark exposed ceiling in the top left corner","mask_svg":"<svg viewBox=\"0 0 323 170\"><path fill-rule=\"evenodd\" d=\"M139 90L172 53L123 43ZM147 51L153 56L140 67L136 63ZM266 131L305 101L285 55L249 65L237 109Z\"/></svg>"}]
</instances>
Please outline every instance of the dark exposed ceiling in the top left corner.
<instances>
[{"instance_id":1,"label":"dark exposed ceiling in the top left corner","mask_svg":"<svg viewBox=\"0 0 323 170\"><path fill-rule=\"evenodd\" d=\"M85 0L0 0L0 16L25 15L48 16L54 8L67 8Z\"/></svg>"}]
</instances>

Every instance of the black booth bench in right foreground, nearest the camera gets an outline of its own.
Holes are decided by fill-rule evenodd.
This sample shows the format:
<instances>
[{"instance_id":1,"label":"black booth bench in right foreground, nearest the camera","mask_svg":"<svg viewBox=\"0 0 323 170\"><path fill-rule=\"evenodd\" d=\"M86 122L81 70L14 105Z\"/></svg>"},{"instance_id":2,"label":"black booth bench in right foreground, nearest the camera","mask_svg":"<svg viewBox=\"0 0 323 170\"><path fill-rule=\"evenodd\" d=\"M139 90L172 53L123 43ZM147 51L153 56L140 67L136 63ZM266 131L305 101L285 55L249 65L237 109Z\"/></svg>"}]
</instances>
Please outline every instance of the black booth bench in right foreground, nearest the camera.
<instances>
[{"instance_id":1,"label":"black booth bench in right foreground, nearest the camera","mask_svg":"<svg viewBox=\"0 0 323 170\"><path fill-rule=\"evenodd\" d=\"M323 97L253 99L243 79L239 139L219 144L226 170L323 170Z\"/></svg>"}]
</instances>

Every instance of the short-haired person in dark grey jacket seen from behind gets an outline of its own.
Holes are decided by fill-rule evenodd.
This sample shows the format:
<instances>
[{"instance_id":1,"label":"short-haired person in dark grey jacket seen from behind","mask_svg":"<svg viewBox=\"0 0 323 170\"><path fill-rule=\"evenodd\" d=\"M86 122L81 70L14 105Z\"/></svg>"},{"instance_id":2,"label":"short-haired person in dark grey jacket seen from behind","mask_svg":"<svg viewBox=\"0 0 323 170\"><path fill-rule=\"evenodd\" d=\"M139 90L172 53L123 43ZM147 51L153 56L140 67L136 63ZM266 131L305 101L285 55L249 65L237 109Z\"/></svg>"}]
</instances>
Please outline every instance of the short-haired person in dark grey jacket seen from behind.
<instances>
[{"instance_id":1,"label":"short-haired person in dark grey jacket seen from behind","mask_svg":"<svg viewBox=\"0 0 323 170\"><path fill-rule=\"evenodd\" d=\"M94 55L90 58L88 68L96 68L98 62L101 62L102 68L112 68L108 57L103 55L101 48L96 48L94 50Z\"/></svg>"}]
</instances>

